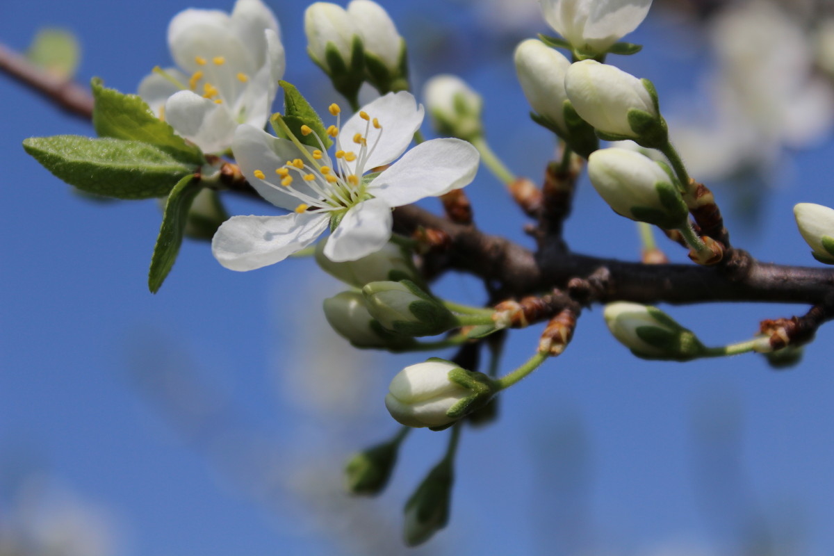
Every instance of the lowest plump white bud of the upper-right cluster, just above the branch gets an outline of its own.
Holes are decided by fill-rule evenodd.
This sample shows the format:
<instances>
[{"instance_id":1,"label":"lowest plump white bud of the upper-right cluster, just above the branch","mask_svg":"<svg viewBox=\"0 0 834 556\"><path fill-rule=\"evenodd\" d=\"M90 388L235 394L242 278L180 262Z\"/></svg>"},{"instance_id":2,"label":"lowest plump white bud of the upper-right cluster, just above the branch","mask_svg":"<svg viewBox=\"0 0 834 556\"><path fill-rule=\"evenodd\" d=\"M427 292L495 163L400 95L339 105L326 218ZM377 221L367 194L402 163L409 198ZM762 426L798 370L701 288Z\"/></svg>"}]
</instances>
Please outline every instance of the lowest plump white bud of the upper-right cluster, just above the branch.
<instances>
[{"instance_id":1,"label":"lowest plump white bud of the upper-right cluster, just above the branch","mask_svg":"<svg viewBox=\"0 0 834 556\"><path fill-rule=\"evenodd\" d=\"M614 212L665 229L686 225L689 214L671 170L625 148L590 154L588 175Z\"/></svg>"}]
</instances>

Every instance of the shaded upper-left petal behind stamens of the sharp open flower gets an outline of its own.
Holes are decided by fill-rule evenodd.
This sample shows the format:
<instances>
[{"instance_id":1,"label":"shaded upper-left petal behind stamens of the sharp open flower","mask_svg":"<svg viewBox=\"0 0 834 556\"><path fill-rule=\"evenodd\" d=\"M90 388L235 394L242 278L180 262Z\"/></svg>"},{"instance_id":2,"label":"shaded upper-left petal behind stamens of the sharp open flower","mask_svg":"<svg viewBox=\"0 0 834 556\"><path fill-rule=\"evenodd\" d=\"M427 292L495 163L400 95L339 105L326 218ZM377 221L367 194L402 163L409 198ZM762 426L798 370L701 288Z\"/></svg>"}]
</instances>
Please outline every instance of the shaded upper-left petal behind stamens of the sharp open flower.
<instances>
[{"instance_id":1,"label":"shaded upper-left petal behind stamens of the sharp open flower","mask_svg":"<svg viewBox=\"0 0 834 556\"><path fill-rule=\"evenodd\" d=\"M244 123L235 130L232 152L244 176L261 197L287 210L299 206L302 201L281 185L281 178L275 173L288 160L301 155L293 143ZM254 175L257 170L264 173L264 179ZM313 191L301 179L294 179L293 188L304 195L314 196Z\"/></svg>"}]
</instances>

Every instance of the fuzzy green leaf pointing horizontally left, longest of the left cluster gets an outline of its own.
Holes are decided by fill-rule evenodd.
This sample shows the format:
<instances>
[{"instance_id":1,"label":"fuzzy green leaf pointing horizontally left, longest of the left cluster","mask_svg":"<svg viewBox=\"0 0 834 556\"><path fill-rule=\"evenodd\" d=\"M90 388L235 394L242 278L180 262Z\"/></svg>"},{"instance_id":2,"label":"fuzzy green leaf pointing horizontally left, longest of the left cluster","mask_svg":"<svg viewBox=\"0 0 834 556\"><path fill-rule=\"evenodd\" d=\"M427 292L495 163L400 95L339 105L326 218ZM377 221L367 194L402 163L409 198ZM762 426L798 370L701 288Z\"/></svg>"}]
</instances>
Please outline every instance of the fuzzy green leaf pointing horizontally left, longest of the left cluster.
<instances>
[{"instance_id":1,"label":"fuzzy green leaf pointing horizontally left, longest of the left cluster","mask_svg":"<svg viewBox=\"0 0 834 556\"><path fill-rule=\"evenodd\" d=\"M122 139L55 135L28 138L23 148L64 182L121 199L162 197L197 169L153 145Z\"/></svg>"}]
</instances>

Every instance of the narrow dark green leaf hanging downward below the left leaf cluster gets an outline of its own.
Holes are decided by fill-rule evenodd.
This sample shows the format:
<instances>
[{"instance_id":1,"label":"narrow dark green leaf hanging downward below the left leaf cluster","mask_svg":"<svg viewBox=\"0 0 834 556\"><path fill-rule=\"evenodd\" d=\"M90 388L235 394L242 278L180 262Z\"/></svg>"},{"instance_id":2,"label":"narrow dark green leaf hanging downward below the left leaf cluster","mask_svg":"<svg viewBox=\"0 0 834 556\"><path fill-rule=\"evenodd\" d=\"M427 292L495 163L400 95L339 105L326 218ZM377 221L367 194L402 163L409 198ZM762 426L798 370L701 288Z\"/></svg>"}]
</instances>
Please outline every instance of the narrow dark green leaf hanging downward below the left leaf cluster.
<instances>
[{"instance_id":1,"label":"narrow dark green leaf hanging downward below the left leaf cluster","mask_svg":"<svg viewBox=\"0 0 834 556\"><path fill-rule=\"evenodd\" d=\"M203 186L193 174L179 180L168 195L162 226L159 227L157 243L153 248L151 268L148 271L148 289L157 293L165 277L171 272L177 260L179 246L183 243L185 225L188 223L188 208Z\"/></svg>"}]
</instances>

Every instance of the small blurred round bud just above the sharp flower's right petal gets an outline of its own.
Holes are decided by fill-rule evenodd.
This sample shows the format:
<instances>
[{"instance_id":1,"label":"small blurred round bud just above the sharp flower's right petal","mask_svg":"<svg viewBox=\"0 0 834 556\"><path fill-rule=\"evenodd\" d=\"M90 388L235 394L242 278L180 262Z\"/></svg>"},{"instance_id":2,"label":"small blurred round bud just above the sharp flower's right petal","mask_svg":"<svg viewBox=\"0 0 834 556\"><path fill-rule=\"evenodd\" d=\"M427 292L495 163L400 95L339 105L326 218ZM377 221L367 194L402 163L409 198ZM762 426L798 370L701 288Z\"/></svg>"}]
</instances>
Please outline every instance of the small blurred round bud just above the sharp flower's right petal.
<instances>
[{"instance_id":1,"label":"small blurred round bud just above the sharp flower's right petal","mask_svg":"<svg viewBox=\"0 0 834 556\"><path fill-rule=\"evenodd\" d=\"M484 132L480 121L484 101L463 79L435 75L426 82L423 97L439 133L469 141Z\"/></svg>"}]
</instances>

